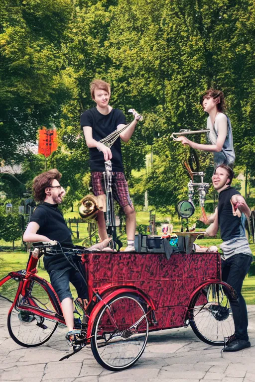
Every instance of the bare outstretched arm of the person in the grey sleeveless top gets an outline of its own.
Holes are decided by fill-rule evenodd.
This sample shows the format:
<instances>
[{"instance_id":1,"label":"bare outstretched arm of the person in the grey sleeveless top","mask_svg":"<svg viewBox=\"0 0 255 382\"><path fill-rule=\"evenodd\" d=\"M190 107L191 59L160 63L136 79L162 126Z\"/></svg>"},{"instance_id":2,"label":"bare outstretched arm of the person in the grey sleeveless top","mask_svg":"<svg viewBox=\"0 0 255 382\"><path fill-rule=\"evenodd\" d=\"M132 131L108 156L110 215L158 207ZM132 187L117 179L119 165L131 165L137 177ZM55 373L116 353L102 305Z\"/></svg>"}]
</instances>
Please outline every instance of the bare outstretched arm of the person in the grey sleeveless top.
<instances>
[{"instance_id":1,"label":"bare outstretched arm of the person in the grey sleeveless top","mask_svg":"<svg viewBox=\"0 0 255 382\"><path fill-rule=\"evenodd\" d=\"M189 145L193 149L219 153L223 148L228 133L228 121L224 114L219 116L218 125L218 137L215 145L203 145L201 143L192 142L184 136L178 137L175 140L182 142L183 145Z\"/></svg>"}]
</instances>

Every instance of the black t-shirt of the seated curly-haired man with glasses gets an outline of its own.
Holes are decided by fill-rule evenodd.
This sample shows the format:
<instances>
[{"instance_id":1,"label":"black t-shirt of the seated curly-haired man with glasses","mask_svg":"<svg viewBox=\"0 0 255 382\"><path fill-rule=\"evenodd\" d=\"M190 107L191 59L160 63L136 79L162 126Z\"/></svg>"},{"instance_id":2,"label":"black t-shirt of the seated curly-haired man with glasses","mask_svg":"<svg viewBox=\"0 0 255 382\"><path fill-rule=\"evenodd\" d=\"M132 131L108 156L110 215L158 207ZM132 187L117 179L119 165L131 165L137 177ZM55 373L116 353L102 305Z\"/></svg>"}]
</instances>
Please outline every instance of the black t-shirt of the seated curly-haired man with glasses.
<instances>
[{"instance_id":1,"label":"black t-shirt of the seated curly-haired man with glasses","mask_svg":"<svg viewBox=\"0 0 255 382\"><path fill-rule=\"evenodd\" d=\"M30 222L39 224L37 233L44 235L50 240L57 240L65 248L75 248L72 243L72 235L67 227L62 212L57 208L57 204L43 202L35 208ZM64 269L70 267L70 263L64 255L44 256L44 266L47 272L52 269Z\"/></svg>"}]
</instances>

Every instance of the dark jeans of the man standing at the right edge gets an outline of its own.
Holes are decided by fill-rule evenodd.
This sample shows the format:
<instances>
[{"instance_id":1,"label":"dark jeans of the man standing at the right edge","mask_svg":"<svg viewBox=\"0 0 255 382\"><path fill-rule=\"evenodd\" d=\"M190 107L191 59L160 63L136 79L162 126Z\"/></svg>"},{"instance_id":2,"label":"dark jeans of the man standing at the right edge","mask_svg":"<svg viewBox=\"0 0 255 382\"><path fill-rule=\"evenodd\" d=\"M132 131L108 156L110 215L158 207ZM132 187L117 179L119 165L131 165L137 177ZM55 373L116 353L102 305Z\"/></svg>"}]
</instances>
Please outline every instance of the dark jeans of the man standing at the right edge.
<instances>
[{"instance_id":1,"label":"dark jeans of the man standing at the right edge","mask_svg":"<svg viewBox=\"0 0 255 382\"><path fill-rule=\"evenodd\" d=\"M239 253L227 260L221 261L222 281L225 281L236 290L237 299L229 297L235 323L235 334L238 339L249 340L247 327L248 315L244 297L241 294L244 279L249 271L252 256Z\"/></svg>"}]
</instances>

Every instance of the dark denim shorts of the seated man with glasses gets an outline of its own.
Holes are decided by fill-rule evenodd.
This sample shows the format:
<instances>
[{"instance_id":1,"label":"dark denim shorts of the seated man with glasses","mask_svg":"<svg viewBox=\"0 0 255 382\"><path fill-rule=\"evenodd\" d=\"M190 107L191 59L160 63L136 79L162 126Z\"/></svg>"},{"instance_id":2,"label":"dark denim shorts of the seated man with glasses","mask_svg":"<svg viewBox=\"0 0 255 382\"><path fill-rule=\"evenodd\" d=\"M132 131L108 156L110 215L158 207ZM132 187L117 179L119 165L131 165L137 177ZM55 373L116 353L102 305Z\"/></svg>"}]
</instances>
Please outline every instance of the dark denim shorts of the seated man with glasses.
<instances>
[{"instance_id":1,"label":"dark denim shorts of the seated man with glasses","mask_svg":"<svg viewBox=\"0 0 255 382\"><path fill-rule=\"evenodd\" d=\"M78 297L88 299L87 286L81 274L73 267L53 269L50 271L49 276L51 285L55 289L60 302L66 297L73 298L69 283L72 283L77 290Z\"/></svg>"}]
</instances>

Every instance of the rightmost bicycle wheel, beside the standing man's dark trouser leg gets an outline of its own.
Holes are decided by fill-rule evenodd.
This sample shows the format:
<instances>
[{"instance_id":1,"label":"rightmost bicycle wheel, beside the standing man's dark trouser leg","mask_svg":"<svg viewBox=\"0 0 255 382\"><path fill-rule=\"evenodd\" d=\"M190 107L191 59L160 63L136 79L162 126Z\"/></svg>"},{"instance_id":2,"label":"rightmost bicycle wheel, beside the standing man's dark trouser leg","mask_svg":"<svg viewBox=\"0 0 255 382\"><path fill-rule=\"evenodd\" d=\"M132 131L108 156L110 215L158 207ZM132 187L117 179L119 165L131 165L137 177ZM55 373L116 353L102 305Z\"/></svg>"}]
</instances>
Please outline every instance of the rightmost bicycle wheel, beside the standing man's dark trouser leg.
<instances>
[{"instance_id":1,"label":"rightmost bicycle wheel, beside the standing man's dark trouser leg","mask_svg":"<svg viewBox=\"0 0 255 382\"><path fill-rule=\"evenodd\" d=\"M200 289L189 311L194 333L209 345L223 346L224 338L235 333L235 324L227 288L210 284Z\"/></svg>"}]
</instances>

